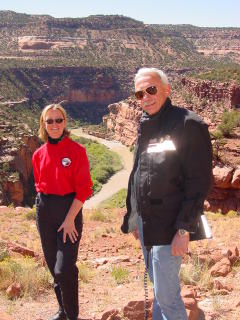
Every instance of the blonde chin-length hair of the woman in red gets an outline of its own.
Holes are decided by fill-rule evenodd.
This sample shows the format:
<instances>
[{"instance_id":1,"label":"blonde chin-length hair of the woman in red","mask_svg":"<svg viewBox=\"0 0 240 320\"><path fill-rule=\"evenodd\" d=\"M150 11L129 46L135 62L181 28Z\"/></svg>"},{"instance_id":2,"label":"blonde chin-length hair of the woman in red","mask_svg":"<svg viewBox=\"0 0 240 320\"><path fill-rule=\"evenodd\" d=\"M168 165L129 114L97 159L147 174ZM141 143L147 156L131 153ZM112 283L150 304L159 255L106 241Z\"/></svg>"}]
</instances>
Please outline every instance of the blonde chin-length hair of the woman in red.
<instances>
[{"instance_id":1,"label":"blonde chin-length hair of the woman in red","mask_svg":"<svg viewBox=\"0 0 240 320\"><path fill-rule=\"evenodd\" d=\"M40 127L38 130L38 136L44 142L47 142L47 140L48 140L48 133L47 133L47 130L45 129L45 125L44 125L45 117L46 117L47 112L51 109L52 110L59 110L61 112L64 120L67 121L67 113L66 113L65 109L60 104L49 104L48 106L46 106L41 113ZM64 128L63 134L65 136L69 136L70 131L67 130L66 128Z\"/></svg>"}]
</instances>

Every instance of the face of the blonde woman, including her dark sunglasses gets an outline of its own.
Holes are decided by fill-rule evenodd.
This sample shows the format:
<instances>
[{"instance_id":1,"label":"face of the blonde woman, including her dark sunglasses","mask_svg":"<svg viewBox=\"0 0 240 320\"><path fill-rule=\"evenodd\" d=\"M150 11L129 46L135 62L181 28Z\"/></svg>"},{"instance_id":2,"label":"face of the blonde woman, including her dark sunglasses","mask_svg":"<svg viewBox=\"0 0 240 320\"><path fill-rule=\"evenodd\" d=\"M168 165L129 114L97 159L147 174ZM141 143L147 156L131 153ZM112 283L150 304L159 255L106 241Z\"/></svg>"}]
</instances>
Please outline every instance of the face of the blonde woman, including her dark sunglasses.
<instances>
[{"instance_id":1,"label":"face of the blonde woman, including her dark sunglasses","mask_svg":"<svg viewBox=\"0 0 240 320\"><path fill-rule=\"evenodd\" d=\"M63 130L66 127L66 120L60 110L50 109L45 115L44 126L51 138L58 139L61 137Z\"/></svg>"}]
</instances>

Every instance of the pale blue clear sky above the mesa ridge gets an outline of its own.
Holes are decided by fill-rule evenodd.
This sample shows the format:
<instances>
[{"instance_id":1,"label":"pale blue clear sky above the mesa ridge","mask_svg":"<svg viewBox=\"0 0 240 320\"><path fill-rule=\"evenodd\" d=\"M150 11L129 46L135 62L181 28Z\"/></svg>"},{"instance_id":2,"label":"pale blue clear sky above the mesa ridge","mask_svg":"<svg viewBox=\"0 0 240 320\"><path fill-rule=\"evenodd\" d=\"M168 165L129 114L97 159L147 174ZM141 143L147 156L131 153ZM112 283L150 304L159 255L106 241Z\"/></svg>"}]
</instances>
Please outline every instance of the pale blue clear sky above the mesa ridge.
<instances>
[{"instance_id":1,"label":"pale blue clear sky above the mesa ridge","mask_svg":"<svg viewBox=\"0 0 240 320\"><path fill-rule=\"evenodd\" d=\"M0 0L0 10L56 18L118 14L145 24L240 27L239 0Z\"/></svg>"}]
</instances>

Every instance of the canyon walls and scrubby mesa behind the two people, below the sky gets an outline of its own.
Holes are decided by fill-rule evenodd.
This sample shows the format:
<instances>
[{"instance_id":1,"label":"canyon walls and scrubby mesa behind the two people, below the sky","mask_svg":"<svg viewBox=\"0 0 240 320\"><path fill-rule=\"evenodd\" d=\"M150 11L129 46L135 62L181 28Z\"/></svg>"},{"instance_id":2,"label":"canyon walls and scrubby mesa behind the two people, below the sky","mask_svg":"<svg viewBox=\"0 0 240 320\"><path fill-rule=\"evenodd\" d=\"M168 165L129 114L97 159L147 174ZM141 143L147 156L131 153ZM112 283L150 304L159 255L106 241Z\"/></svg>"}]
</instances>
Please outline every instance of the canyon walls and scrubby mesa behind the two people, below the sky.
<instances>
[{"instance_id":1,"label":"canyon walls and scrubby mesa behind the two people, below the sky","mask_svg":"<svg viewBox=\"0 0 240 320\"><path fill-rule=\"evenodd\" d=\"M172 84L173 102L196 111L210 130L216 129L224 110L240 104L238 69L230 71L226 81L199 78L204 72L239 64L240 28L145 25L124 16L58 19L0 11L0 40L2 204L31 202L30 159L40 143L40 111L49 103L61 102L78 125L99 124L103 118L105 137L126 146L134 146L141 117L131 96L134 73L141 66L162 66ZM237 141L238 136L224 149L232 168L230 181L238 172ZM223 196L222 191L218 201L238 199L235 182L227 188L231 195L224 191ZM239 204L235 201L229 207L238 210Z\"/></svg>"}]
</instances>

